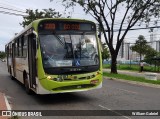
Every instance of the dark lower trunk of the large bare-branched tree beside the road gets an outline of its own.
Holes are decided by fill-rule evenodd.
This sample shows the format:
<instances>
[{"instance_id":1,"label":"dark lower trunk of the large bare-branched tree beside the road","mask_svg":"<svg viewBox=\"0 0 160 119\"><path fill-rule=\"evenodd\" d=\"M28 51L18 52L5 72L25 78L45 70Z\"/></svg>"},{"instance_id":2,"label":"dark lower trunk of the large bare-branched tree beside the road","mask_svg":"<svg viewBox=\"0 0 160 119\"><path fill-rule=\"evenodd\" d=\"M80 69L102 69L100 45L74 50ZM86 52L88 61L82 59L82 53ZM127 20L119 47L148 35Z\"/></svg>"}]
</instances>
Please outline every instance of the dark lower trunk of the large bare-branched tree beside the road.
<instances>
[{"instance_id":1,"label":"dark lower trunk of the large bare-branched tree beside the road","mask_svg":"<svg viewBox=\"0 0 160 119\"><path fill-rule=\"evenodd\" d=\"M112 55L111 73L117 74L117 55Z\"/></svg>"}]
</instances>

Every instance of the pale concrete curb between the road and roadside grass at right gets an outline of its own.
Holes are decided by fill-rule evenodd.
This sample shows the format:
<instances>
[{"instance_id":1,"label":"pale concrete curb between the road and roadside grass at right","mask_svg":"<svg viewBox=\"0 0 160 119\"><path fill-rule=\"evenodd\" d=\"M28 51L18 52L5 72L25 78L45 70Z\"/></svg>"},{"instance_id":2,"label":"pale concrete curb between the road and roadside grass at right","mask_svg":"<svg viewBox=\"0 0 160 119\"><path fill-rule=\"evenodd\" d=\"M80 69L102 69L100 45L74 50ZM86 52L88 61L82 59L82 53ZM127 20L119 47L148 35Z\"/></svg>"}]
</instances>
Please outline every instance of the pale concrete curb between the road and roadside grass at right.
<instances>
[{"instance_id":1,"label":"pale concrete curb between the road and roadside grass at right","mask_svg":"<svg viewBox=\"0 0 160 119\"><path fill-rule=\"evenodd\" d=\"M134 84L134 85L146 86L146 87L151 87L151 88L160 88L160 85L156 85L156 84L142 83L142 82L137 82L137 81L129 81L129 80L117 79L117 78L111 78L111 77L104 77L104 78L110 79L110 80L115 80L115 81L120 81L120 82L125 82L125 83L129 83L129 84Z\"/></svg>"}]
</instances>

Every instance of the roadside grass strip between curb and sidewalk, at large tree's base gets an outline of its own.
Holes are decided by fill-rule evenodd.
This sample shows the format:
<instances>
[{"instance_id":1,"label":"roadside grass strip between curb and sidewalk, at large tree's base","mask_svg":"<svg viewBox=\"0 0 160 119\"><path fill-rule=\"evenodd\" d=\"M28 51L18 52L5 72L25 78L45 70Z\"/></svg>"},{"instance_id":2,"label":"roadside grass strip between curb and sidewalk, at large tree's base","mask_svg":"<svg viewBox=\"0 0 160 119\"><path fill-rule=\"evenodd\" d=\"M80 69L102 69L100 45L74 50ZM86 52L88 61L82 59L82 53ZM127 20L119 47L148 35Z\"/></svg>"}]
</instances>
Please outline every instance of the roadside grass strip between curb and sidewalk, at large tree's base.
<instances>
[{"instance_id":1,"label":"roadside grass strip between curb and sidewalk, at large tree's base","mask_svg":"<svg viewBox=\"0 0 160 119\"><path fill-rule=\"evenodd\" d=\"M124 80L138 81L138 82L160 85L160 80L157 80L157 81L147 80L144 77L129 76L129 75L125 75L125 74L111 74L111 73L107 73L107 72L103 72L103 75L107 76L107 77L111 77L111 78L117 78L117 79L124 79Z\"/></svg>"}]
</instances>

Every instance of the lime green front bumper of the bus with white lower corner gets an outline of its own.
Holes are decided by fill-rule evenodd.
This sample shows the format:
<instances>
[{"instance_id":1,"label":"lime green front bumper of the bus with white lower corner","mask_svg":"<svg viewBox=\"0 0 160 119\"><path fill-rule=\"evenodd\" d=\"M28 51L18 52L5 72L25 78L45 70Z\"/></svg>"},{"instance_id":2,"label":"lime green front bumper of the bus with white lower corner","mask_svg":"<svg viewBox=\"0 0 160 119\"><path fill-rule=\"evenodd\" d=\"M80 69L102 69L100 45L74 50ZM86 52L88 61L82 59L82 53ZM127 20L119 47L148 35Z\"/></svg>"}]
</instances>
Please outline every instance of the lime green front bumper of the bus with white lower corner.
<instances>
[{"instance_id":1,"label":"lime green front bumper of the bus with white lower corner","mask_svg":"<svg viewBox=\"0 0 160 119\"><path fill-rule=\"evenodd\" d=\"M37 79L38 80L38 79ZM57 82L44 78L37 81L37 94L55 94L67 92L80 92L97 89L102 87L102 75L96 76L92 79L78 80L78 81L63 81Z\"/></svg>"}]
</instances>

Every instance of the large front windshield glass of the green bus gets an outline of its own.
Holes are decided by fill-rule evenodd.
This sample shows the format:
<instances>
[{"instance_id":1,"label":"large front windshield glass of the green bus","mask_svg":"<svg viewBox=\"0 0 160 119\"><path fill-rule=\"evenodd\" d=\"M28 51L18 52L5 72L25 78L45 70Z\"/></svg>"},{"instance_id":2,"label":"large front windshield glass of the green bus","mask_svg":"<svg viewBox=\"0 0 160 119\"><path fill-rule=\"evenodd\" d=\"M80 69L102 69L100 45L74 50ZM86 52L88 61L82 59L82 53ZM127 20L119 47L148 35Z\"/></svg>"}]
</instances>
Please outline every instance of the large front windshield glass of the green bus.
<instances>
[{"instance_id":1,"label":"large front windshield glass of the green bus","mask_svg":"<svg viewBox=\"0 0 160 119\"><path fill-rule=\"evenodd\" d=\"M99 65L95 34L39 37L44 68Z\"/></svg>"}]
</instances>

